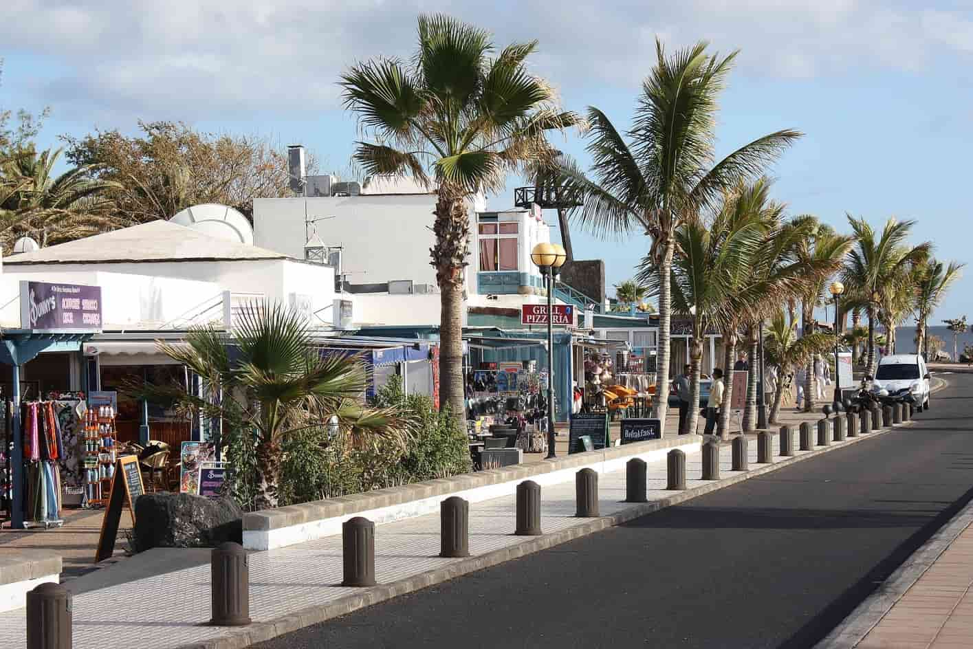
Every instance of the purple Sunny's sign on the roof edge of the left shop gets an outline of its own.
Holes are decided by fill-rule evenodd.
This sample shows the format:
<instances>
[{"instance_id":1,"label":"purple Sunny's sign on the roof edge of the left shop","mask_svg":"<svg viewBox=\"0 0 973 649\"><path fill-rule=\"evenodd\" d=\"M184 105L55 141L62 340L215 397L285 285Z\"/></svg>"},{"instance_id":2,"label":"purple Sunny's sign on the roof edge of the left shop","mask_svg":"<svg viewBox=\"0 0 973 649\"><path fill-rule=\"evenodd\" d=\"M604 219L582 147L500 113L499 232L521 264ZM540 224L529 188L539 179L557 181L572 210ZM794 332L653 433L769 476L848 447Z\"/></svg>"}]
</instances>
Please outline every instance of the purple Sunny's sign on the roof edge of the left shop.
<instances>
[{"instance_id":1,"label":"purple Sunny's sign on the roof edge of the left shop","mask_svg":"<svg viewBox=\"0 0 973 649\"><path fill-rule=\"evenodd\" d=\"M20 282L20 327L32 331L101 331L101 287Z\"/></svg>"}]
</instances>

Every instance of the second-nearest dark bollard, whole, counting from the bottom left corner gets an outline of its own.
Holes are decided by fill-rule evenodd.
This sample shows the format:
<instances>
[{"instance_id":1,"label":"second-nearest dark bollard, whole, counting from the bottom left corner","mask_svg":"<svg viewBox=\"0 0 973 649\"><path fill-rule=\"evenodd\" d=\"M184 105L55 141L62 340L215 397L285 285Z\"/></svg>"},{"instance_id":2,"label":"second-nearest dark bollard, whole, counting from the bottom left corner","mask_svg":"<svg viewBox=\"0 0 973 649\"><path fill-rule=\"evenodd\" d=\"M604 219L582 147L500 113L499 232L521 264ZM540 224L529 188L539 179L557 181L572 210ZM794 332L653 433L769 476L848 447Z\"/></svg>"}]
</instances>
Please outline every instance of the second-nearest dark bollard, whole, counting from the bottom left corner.
<instances>
[{"instance_id":1,"label":"second-nearest dark bollard, whole, counting from the bottom left corner","mask_svg":"<svg viewBox=\"0 0 973 649\"><path fill-rule=\"evenodd\" d=\"M245 627L250 624L250 564L239 543L228 541L209 556L209 624Z\"/></svg>"}]
</instances>

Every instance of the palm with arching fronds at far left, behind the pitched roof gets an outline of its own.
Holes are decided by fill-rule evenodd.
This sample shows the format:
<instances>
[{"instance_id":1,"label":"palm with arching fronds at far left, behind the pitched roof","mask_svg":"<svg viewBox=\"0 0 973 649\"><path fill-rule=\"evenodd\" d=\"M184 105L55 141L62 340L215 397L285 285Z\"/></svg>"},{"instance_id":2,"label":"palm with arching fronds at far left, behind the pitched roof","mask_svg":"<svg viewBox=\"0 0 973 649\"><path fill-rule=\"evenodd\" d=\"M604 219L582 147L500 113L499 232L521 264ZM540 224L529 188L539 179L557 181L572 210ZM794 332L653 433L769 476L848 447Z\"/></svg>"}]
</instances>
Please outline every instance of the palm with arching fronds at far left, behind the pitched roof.
<instances>
[{"instance_id":1,"label":"palm with arching fronds at far left, behind the pitched roof","mask_svg":"<svg viewBox=\"0 0 973 649\"><path fill-rule=\"evenodd\" d=\"M44 246L111 229L107 194L118 188L94 178L86 164L55 176L60 149L24 148L0 162L0 244L10 253L21 236ZM5 188L5 189L4 189Z\"/></svg>"}]
</instances>

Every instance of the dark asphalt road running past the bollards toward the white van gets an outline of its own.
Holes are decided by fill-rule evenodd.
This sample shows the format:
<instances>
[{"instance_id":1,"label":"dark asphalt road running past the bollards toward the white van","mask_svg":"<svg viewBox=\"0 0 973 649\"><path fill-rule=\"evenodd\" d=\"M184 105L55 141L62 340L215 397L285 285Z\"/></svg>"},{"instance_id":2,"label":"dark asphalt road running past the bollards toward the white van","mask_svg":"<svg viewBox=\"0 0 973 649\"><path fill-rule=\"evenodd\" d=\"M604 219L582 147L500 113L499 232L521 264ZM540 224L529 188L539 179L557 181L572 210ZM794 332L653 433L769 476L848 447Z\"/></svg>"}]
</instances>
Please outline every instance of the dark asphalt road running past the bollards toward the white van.
<instances>
[{"instance_id":1,"label":"dark asphalt road running past the bollards toward the white van","mask_svg":"<svg viewBox=\"0 0 973 649\"><path fill-rule=\"evenodd\" d=\"M973 497L973 376L916 424L257 645L810 647Z\"/></svg>"}]
</instances>

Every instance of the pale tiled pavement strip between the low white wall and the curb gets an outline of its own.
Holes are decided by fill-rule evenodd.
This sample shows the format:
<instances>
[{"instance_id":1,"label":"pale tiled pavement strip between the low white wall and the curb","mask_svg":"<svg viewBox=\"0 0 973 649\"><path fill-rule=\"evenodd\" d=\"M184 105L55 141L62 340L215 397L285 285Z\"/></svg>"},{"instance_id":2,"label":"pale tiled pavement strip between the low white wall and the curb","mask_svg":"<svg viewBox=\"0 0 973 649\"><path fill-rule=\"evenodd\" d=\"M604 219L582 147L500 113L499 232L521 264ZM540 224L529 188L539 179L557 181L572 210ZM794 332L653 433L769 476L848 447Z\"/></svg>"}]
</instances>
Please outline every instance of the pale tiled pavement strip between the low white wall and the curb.
<instances>
[{"instance_id":1,"label":"pale tiled pavement strip between the low white wall and the curb","mask_svg":"<svg viewBox=\"0 0 973 649\"><path fill-rule=\"evenodd\" d=\"M776 456L778 440L776 435L773 437ZM833 443L833 446L848 443ZM748 450L751 469L756 468L752 464L757 455L755 440L751 440ZM798 455L806 454L796 452ZM739 477L738 472L730 471L732 453L729 445L721 448L720 465L724 480ZM672 495L673 492L665 490L665 458L651 462L648 468L649 499L659 500ZM711 486L708 482L692 480L701 475L701 470L700 453L688 454L689 489ZM630 507L621 502L625 497L625 472L601 475L598 495L601 516ZM574 518L573 482L544 487L541 496L545 533L590 521ZM515 509L513 495L470 505L470 551L473 555L483 555L525 541L524 537L512 535ZM342 580L341 547L341 537L332 536L251 555L250 613L254 622L268 622L344 595L361 594L362 589L339 586ZM378 582L387 584L466 560L440 559L436 556L438 552L437 515L378 525ZM74 646L77 649L176 647L215 639L227 631L203 626L209 618L208 565L75 595L73 611ZM24 612L19 610L0 614L0 646L14 649L24 645Z\"/></svg>"}]
</instances>

